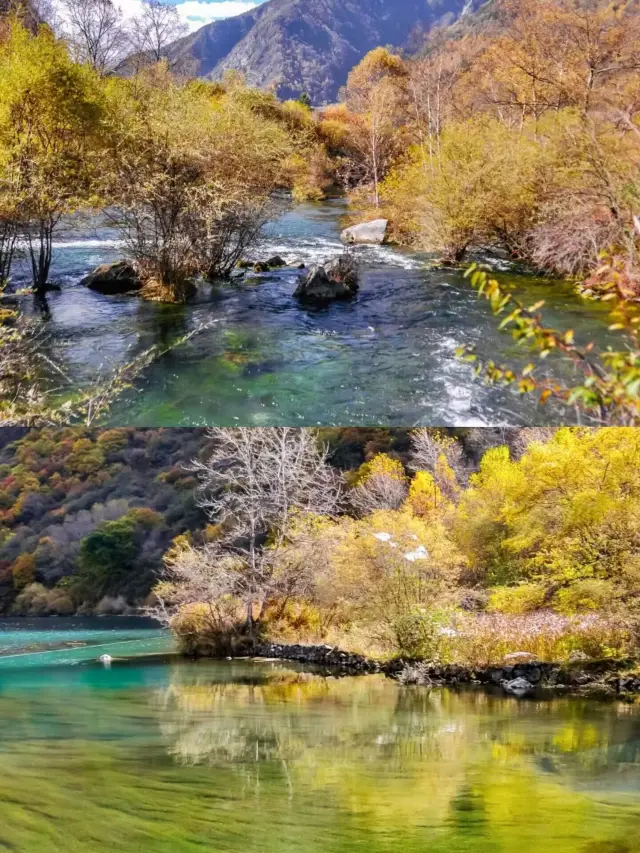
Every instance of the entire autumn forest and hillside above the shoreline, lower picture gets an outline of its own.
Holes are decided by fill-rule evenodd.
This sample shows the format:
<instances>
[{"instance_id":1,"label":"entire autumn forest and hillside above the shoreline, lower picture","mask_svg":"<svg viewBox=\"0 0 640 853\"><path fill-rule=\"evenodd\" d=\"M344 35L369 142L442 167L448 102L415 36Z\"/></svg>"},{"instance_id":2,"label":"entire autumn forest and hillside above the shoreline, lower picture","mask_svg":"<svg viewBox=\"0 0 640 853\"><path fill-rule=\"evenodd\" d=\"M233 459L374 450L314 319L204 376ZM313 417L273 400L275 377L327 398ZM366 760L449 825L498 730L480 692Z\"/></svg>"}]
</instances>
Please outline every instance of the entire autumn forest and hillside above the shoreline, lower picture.
<instances>
[{"instance_id":1,"label":"entire autumn forest and hillside above the shoreline, lower picture","mask_svg":"<svg viewBox=\"0 0 640 853\"><path fill-rule=\"evenodd\" d=\"M635 429L31 430L0 456L2 602L486 664L635 654Z\"/></svg>"}]
</instances>

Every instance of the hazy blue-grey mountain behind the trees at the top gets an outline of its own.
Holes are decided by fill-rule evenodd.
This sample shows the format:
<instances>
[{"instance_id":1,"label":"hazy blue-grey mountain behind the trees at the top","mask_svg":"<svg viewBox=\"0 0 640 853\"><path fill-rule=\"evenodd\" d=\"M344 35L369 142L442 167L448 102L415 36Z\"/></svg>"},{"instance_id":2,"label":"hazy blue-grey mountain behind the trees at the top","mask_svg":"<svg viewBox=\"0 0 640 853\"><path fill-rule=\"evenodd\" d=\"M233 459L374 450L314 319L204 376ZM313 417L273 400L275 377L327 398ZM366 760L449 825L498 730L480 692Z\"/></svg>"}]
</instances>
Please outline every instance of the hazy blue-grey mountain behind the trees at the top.
<instances>
[{"instance_id":1,"label":"hazy blue-grey mountain behind the trees at the top","mask_svg":"<svg viewBox=\"0 0 640 853\"><path fill-rule=\"evenodd\" d=\"M422 33L449 25L484 0L268 0L214 21L175 42L172 61L195 64L218 80L242 72L279 97L307 92L315 105L335 101L349 71L375 47L408 47Z\"/></svg>"}]
</instances>

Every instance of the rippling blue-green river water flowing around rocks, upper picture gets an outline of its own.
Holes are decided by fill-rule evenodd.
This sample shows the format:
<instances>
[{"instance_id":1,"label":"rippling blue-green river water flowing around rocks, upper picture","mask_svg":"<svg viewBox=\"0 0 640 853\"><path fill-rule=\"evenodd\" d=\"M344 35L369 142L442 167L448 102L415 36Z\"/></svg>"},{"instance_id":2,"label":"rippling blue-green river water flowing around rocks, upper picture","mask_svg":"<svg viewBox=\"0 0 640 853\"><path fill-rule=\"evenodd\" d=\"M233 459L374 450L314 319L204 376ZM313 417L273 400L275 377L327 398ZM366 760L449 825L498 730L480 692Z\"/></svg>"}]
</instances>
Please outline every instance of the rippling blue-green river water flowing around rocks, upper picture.
<instances>
[{"instance_id":1,"label":"rippling blue-green river water flowing around rocks, upper picture","mask_svg":"<svg viewBox=\"0 0 640 853\"><path fill-rule=\"evenodd\" d=\"M340 254L340 201L300 205L272 223L256 257L290 264ZM210 328L151 366L113 409L110 422L136 426L535 424L558 420L510 390L486 388L456 347L524 365L460 272L429 270L425 255L391 247L358 250L360 294L324 308L292 298L295 269L202 286L188 305L101 296L78 283L119 257L117 234L76 228L56 244L46 350L74 382L90 383L153 344L202 323ZM26 281L25 265L15 283ZM578 340L607 340L602 307L571 287L511 277L529 304L545 299L546 319ZM30 298L25 298L29 308ZM551 372L560 368L551 363ZM565 374L566 375L566 374ZM566 422L567 413L563 413Z\"/></svg>"}]
</instances>

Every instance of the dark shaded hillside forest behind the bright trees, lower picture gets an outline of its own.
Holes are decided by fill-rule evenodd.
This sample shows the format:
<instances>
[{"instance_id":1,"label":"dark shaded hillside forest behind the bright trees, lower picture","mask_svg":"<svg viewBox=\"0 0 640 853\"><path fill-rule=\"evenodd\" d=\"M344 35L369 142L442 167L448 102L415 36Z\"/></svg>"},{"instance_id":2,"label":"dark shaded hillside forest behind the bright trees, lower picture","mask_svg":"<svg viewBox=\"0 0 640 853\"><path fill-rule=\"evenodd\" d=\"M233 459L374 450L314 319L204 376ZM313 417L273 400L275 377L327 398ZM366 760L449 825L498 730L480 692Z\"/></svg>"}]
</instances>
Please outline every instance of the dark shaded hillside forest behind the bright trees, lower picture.
<instances>
[{"instance_id":1,"label":"dark shaded hillside forest behind the bright trees, lower picture","mask_svg":"<svg viewBox=\"0 0 640 853\"><path fill-rule=\"evenodd\" d=\"M377 452L408 459L407 430L324 437L344 470ZM0 444L0 612L137 607L171 541L205 535L188 470L211 450L204 430L4 428Z\"/></svg>"}]
</instances>

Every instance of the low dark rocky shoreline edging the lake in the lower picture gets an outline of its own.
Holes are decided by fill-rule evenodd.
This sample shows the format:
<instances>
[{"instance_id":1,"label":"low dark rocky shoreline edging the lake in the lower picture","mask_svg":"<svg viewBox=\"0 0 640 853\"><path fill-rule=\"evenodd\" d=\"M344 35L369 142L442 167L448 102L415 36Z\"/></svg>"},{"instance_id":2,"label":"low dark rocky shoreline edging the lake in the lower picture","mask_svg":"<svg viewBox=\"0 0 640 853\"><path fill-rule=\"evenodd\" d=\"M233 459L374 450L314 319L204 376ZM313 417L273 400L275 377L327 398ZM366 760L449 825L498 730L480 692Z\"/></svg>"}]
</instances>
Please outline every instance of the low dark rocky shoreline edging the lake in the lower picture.
<instances>
[{"instance_id":1,"label":"low dark rocky shoreline edging the lake in the lower picture","mask_svg":"<svg viewBox=\"0 0 640 853\"><path fill-rule=\"evenodd\" d=\"M569 664L524 661L480 669L403 659L376 661L334 646L286 643L262 643L254 649L254 656L324 666L341 675L383 673L402 684L501 688L505 693L519 697L539 696L549 691L618 698L640 694L640 675L628 674L634 663L631 660L576 661Z\"/></svg>"}]
</instances>

